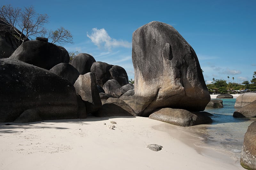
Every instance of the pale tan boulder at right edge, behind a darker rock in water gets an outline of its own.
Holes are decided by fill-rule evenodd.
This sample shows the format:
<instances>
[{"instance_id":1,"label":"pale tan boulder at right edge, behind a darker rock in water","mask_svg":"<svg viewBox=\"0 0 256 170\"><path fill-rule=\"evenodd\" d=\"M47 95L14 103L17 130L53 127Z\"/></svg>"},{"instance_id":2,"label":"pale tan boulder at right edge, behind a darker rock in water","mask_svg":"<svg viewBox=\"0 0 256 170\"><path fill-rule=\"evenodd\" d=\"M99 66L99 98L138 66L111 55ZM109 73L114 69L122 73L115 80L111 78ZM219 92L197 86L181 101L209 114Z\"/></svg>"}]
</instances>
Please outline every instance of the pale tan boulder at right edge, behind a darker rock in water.
<instances>
[{"instance_id":1,"label":"pale tan boulder at right edge, behind a darker rock in water","mask_svg":"<svg viewBox=\"0 0 256 170\"><path fill-rule=\"evenodd\" d=\"M256 100L256 92L244 93L236 98L235 108L244 107Z\"/></svg>"}]
</instances>

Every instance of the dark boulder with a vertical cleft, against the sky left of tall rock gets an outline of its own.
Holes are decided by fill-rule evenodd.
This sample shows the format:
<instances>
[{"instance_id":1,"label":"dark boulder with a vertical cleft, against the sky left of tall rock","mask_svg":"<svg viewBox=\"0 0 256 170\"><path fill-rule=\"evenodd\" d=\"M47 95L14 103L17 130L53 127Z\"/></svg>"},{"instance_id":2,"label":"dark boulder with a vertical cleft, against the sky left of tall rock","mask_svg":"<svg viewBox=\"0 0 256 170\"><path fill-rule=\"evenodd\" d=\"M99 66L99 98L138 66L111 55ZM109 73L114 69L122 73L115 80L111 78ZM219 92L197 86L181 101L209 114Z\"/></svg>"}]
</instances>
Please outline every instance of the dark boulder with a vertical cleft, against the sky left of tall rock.
<instances>
[{"instance_id":1,"label":"dark boulder with a vertical cleft, against the sky left of tall rock","mask_svg":"<svg viewBox=\"0 0 256 170\"><path fill-rule=\"evenodd\" d=\"M97 85L101 87L112 79L118 81L121 86L129 83L126 71L117 65L95 62L92 64L91 72L96 76Z\"/></svg>"}]
</instances>

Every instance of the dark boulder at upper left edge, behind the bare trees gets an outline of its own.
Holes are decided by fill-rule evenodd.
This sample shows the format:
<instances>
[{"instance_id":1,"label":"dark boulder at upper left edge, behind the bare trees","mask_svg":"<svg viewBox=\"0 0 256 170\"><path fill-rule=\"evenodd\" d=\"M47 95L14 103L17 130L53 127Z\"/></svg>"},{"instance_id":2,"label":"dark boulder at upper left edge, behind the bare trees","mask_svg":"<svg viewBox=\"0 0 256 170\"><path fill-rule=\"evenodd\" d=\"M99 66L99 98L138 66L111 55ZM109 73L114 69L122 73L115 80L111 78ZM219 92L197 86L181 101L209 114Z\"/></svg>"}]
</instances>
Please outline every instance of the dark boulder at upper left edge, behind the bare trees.
<instances>
[{"instance_id":1,"label":"dark boulder at upper left edge, behind the bare trees","mask_svg":"<svg viewBox=\"0 0 256 170\"><path fill-rule=\"evenodd\" d=\"M21 34L21 32L14 28L17 33L15 35ZM9 58L12 53L19 47L19 41L12 35L12 28L9 23L0 18L0 58ZM22 34L22 38L25 35ZM26 39L25 41L28 41Z\"/></svg>"}]
</instances>

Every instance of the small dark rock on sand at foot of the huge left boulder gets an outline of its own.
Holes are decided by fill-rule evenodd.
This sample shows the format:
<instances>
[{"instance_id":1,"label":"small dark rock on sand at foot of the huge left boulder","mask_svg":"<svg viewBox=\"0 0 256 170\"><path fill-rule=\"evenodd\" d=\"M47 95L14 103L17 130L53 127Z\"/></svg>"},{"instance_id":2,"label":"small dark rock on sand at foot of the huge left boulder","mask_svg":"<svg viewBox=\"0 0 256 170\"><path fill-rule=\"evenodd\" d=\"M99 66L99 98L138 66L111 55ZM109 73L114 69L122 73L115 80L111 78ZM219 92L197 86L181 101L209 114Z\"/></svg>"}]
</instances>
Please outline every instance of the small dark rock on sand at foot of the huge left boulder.
<instances>
[{"instance_id":1,"label":"small dark rock on sand at foot of the huge left boulder","mask_svg":"<svg viewBox=\"0 0 256 170\"><path fill-rule=\"evenodd\" d=\"M25 110L14 122L15 123L28 123L42 121L39 113L35 109Z\"/></svg>"}]
</instances>

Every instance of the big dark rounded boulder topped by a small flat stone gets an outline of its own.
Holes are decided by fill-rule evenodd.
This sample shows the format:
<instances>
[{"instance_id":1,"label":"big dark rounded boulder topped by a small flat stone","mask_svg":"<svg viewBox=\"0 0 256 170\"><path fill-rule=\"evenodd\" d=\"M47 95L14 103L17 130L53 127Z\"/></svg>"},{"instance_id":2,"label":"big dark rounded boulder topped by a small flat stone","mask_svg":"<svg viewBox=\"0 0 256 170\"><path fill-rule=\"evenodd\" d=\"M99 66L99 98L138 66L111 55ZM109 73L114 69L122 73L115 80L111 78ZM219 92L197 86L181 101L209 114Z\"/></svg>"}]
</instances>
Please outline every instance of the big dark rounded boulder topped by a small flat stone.
<instances>
[{"instance_id":1,"label":"big dark rounded boulder topped by a small flat stone","mask_svg":"<svg viewBox=\"0 0 256 170\"><path fill-rule=\"evenodd\" d=\"M38 40L24 42L12 53L10 58L47 70L59 63L69 62L69 54L65 48Z\"/></svg>"}]
</instances>

